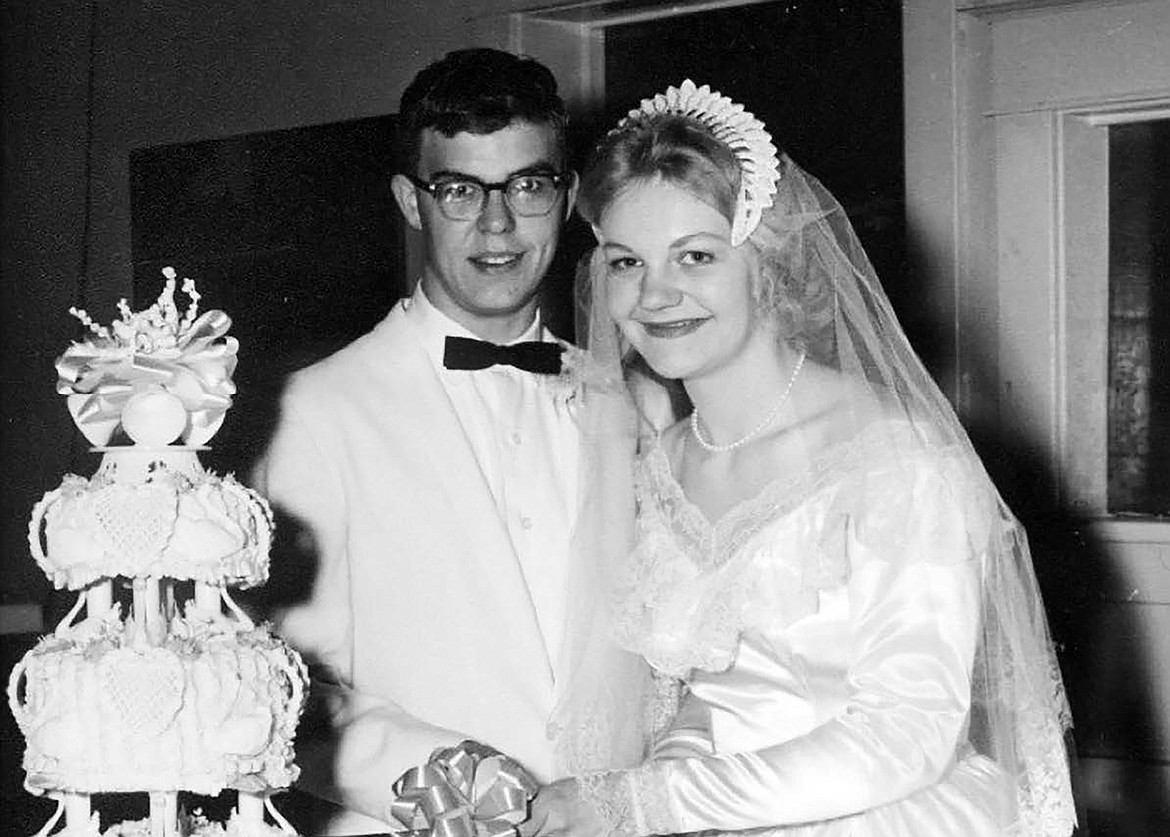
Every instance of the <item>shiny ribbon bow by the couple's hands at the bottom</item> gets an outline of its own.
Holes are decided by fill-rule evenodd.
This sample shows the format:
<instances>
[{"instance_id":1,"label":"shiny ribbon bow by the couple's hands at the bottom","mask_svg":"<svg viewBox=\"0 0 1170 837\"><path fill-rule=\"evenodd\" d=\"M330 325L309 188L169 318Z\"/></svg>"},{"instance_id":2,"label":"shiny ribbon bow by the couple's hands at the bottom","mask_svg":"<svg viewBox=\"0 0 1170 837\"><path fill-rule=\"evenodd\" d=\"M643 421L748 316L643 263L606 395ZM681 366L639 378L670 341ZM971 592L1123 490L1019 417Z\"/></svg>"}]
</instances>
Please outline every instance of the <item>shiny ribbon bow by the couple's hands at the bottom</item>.
<instances>
[{"instance_id":1,"label":"shiny ribbon bow by the couple's hands at the bottom","mask_svg":"<svg viewBox=\"0 0 1170 837\"><path fill-rule=\"evenodd\" d=\"M528 818L536 781L515 760L476 741L435 750L394 782L391 816L432 837L500 837Z\"/></svg>"}]
</instances>

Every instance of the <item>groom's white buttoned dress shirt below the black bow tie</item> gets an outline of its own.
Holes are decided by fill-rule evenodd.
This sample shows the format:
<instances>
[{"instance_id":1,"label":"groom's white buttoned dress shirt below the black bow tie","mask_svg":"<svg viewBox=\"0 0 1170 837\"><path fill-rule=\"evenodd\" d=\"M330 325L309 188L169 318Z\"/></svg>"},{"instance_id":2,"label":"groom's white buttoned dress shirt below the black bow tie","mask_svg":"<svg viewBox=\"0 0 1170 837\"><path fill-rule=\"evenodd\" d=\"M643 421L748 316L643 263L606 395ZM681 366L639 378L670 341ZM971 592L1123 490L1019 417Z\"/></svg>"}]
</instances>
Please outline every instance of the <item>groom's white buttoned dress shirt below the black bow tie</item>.
<instances>
[{"instance_id":1,"label":"groom's white buttoned dress shirt below the black bow tie","mask_svg":"<svg viewBox=\"0 0 1170 837\"><path fill-rule=\"evenodd\" d=\"M578 500L579 435L567 391L555 375L514 366L446 369L447 336L476 335L436 309L421 283L406 307L507 526L556 672ZM537 316L522 341L553 337Z\"/></svg>"}]
</instances>

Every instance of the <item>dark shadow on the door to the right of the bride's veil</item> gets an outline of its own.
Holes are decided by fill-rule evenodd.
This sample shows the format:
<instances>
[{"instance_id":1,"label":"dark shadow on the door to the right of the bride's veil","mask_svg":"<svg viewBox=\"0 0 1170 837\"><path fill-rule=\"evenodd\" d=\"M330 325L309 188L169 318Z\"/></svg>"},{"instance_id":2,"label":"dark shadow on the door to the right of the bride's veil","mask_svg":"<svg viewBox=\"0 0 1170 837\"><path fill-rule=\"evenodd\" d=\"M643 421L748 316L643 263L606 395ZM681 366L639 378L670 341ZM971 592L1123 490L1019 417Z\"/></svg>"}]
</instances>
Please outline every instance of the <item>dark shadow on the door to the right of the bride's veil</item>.
<instances>
[{"instance_id":1,"label":"dark shadow on the door to the right of the bride's veil","mask_svg":"<svg viewBox=\"0 0 1170 837\"><path fill-rule=\"evenodd\" d=\"M1158 667L1141 612L1127 603L1130 590L1116 558L1089 520L1055 500L1055 475L1041 447L980 417L979 405L975 412L964 426L1027 531L1065 678L1080 762L1074 766L1078 835L1170 833L1170 800L1159 778L1170 742L1158 727ZM1088 760L1107 769L1090 770Z\"/></svg>"}]
</instances>

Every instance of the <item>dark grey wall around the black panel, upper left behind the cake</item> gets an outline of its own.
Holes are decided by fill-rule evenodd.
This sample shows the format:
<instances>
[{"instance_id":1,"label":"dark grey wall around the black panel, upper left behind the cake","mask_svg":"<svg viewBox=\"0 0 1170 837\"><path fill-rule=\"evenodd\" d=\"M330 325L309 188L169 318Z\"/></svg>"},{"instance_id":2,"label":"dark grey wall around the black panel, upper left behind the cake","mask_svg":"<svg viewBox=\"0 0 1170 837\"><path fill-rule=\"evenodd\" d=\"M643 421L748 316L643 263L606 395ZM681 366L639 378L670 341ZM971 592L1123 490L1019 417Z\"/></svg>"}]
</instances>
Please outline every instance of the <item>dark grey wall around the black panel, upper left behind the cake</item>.
<instances>
[{"instance_id":1,"label":"dark grey wall around the black panel, upper left behind the cake","mask_svg":"<svg viewBox=\"0 0 1170 837\"><path fill-rule=\"evenodd\" d=\"M0 605L46 596L29 510L94 469L53 361L78 334L70 306L109 322L133 297L132 153L393 114L427 61L524 5L0 4Z\"/></svg>"}]
</instances>

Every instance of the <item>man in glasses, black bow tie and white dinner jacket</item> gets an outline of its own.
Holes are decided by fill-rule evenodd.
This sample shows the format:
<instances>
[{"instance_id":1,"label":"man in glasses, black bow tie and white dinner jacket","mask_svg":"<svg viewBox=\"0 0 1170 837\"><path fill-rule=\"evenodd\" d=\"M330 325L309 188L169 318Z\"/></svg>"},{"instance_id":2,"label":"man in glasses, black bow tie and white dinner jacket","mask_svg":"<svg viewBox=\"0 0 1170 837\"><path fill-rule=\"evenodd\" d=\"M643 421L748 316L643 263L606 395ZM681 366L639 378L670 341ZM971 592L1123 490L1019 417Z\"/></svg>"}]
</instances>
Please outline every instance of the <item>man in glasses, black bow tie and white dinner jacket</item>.
<instances>
[{"instance_id":1,"label":"man in glasses, black bow tie and white dinner jacket","mask_svg":"<svg viewBox=\"0 0 1170 837\"><path fill-rule=\"evenodd\" d=\"M392 188L421 276L294 376L257 472L312 554L277 624L328 715L297 760L303 789L347 809L330 833L385 831L394 780L466 739L556 777L571 642L580 438L538 309L577 190L565 105L536 61L468 49L424 69L399 116Z\"/></svg>"}]
</instances>

